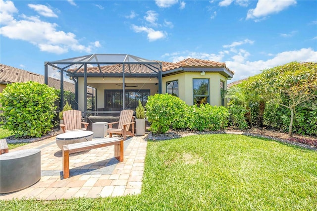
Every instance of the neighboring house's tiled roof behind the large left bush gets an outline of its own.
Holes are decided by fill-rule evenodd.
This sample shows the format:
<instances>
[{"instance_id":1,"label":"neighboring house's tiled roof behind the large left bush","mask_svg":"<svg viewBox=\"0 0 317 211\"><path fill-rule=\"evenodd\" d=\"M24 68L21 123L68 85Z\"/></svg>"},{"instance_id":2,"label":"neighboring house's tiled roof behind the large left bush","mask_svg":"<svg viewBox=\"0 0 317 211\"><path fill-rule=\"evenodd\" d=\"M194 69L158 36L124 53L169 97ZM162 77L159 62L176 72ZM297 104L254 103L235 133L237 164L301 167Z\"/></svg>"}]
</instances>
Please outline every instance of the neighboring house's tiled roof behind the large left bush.
<instances>
[{"instance_id":1,"label":"neighboring house's tiled roof behind the large left bush","mask_svg":"<svg viewBox=\"0 0 317 211\"><path fill-rule=\"evenodd\" d=\"M22 70L19 68L11 67L5 64L0 64L0 83L11 84L16 82L35 81L44 84L44 76ZM48 77L49 85L55 89L60 88L60 80ZM75 92L74 84L64 81L64 90Z\"/></svg>"}]
</instances>

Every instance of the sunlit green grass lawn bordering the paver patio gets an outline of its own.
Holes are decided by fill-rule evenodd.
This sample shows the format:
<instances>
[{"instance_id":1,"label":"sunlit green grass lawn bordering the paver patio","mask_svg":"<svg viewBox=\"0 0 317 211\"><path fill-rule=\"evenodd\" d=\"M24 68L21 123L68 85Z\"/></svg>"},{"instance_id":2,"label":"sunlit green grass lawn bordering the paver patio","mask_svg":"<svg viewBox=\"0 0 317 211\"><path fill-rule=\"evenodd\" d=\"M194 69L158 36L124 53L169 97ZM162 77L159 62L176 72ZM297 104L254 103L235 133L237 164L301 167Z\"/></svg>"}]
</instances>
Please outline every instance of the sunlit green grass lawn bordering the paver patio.
<instances>
[{"instance_id":1,"label":"sunlit green grass lawn bordering the paver patio","mask_svg":"<svg viewBox=\"0 0 317 211\"><path fill-rule=\"evenodd\" d=\"M0 210L317 210L317 152L242 135L149 142L136 196L0 201Z\"/></svg>"}]
</instances>

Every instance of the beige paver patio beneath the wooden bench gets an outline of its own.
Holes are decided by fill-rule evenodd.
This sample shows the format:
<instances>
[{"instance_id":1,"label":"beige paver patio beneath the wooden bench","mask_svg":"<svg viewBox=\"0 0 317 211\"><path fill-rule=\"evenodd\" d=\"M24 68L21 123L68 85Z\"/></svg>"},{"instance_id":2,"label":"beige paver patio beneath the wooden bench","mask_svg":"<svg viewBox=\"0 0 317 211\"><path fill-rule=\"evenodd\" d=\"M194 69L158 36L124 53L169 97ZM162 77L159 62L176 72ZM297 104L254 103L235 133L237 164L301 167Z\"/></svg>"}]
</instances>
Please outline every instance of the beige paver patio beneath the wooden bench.
<instances>
[{"instance_id":1,"label":"beige paver patio beneath the wooden bench","mask_svg":"<svg viewBox=\"0 0 317 211\"><path fill-rule=\"evenodd\" d=\"M41 180L26 189L0 194L0 200L55 200L139 194L146 147L145 136L125 140L123 162L113 157L113 146L71 154L70 177L67 179L62 176L62 151L57 147L55 137L12 149L9 152L31 148L41 150Z\"/></svg>"}]
</instances>

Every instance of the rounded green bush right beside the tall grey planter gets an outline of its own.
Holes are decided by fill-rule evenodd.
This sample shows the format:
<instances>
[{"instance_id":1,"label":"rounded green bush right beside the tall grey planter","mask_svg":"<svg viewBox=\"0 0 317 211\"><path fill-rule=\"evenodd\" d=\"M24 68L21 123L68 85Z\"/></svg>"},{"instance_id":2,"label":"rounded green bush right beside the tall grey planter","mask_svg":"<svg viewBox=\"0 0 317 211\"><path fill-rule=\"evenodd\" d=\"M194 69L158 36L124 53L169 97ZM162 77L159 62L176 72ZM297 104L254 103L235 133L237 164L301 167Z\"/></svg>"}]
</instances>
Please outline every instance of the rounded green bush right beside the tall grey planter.
<instances>
[{"instance_id":1,"label":"rounded green bush right beside the tall grey planter","mask_svg":"<svg viewBox=\"0 0 317 211\"><path fill-rule=\"evenodd\" d=\"M178 97L169 94L149 96L145 108L153 133L165 133L170 128L187 127L187 105Z\"/></svg>"}]
</instances>

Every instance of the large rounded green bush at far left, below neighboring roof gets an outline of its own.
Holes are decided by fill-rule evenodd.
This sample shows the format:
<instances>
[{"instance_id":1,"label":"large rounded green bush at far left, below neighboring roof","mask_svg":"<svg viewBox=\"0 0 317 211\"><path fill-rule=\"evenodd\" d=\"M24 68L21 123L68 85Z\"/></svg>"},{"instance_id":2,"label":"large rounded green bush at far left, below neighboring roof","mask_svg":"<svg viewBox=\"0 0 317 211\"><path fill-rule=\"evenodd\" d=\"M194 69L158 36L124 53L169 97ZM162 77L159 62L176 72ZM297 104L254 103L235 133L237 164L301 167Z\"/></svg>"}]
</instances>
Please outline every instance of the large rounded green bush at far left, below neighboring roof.
<instances>
[{"instance_id":1,"label":"large rounded green bush at far left, below neighboring roof","mask_svg":"<svg viewBox=\"0 0 317 211\"><path fill-rule=\"evenodd\" d=\"M53 128L54 88L37 82L12 83L0 93L3 128L15 137L41 137Z\"/></svg>"}]
</instances>

